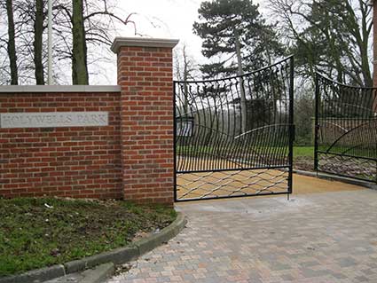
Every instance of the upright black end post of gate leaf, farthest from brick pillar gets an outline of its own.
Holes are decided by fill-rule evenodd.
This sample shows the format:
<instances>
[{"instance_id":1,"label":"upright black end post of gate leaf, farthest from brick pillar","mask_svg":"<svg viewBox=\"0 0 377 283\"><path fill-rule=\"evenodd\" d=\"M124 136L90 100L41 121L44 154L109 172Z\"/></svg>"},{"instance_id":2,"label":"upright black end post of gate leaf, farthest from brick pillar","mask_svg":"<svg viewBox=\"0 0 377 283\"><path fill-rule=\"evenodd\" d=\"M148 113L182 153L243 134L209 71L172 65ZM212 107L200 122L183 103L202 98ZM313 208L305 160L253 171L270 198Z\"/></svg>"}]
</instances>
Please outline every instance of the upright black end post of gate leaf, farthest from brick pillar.
<instances>
[{"instance_id":1,"label":"upright black end post of gate leaf, farthest from brick pillar","mask_svg":"<svg viewBox=\"0 0 377 283\"><path fill-rule=\"evenodd\" d=\"M295 58L292 56L289 64L289 175L288 194L293 193L293 167L294 167L294 141L295 141L295 120L294 120L294 92L295 92Z\"/></svg>"}]
</instances>

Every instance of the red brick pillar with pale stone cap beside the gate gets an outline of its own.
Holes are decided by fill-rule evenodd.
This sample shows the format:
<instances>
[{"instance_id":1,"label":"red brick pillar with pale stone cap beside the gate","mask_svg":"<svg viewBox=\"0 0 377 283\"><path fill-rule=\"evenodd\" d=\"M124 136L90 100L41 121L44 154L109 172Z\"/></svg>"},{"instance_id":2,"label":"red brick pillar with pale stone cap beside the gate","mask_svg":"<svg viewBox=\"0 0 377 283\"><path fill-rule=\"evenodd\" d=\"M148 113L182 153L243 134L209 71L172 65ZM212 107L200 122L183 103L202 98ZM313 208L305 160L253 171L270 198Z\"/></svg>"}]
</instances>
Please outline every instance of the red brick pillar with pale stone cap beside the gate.
<instances>
[{"instance_id":1,"label":"red brick pillar with pale stone cap beside the gate","mask_svg":"<svg viewBox=\"0 0 377 283\"><path fill-rule=\"evenodd\" d=\"M177 40L115 38L122 87L124 199L174 202L173 63Z\"/></svg>"}]
</instances>

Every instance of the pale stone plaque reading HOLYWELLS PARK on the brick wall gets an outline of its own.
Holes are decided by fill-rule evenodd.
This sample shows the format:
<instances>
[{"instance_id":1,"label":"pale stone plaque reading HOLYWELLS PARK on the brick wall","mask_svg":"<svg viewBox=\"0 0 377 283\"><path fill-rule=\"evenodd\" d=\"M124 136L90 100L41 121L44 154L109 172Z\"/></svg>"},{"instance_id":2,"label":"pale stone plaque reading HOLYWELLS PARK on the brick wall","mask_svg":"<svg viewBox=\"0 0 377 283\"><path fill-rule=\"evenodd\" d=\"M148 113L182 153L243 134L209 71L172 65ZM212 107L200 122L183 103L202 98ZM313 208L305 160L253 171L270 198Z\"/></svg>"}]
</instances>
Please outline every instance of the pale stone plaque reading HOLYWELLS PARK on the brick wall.
<instances>
[{"instance_id":1,"label":"pale stone plaque reading HOLYWELLS PARK on the brick wall","mask_svg":"<svg viewBox=\"0 0 377 283\"><path fill-rule=\"evenodd\" d=\"M107 126L108 112L2 113L0 128Z\"/></svg>"}]
</instances>

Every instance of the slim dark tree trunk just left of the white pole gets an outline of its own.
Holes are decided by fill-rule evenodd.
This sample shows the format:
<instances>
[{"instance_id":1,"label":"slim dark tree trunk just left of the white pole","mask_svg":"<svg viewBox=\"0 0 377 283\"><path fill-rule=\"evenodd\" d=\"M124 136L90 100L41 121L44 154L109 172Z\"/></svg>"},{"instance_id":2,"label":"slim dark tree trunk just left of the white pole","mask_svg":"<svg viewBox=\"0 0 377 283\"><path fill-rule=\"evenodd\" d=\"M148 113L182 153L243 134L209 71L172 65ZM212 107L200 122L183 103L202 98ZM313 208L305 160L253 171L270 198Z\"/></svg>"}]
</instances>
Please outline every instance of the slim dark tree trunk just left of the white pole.
<instances>
[{"instance_id":1,"label":"slim dark tree trunk just left of the white pole","mask_svg":"<svg viewBox=\"0 0 377 283\"><path fill-rule=\"evenodd\" d=\"M36 84L44 84L43 72L43 0L35 0L34 64Z\"/></svg>"}]
</instances>

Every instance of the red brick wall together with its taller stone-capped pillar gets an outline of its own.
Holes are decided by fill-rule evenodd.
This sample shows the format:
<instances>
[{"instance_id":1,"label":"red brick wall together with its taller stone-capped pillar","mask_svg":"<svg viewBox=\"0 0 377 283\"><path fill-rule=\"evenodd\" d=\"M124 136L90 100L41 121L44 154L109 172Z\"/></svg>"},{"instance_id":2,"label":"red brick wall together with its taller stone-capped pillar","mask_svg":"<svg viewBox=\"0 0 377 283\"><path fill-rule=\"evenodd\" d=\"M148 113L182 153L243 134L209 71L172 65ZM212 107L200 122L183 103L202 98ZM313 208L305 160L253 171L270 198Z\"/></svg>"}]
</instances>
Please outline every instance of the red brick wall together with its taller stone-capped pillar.
<instances>
[{"instance_id":1,"label":"red brick wall together with its taller stone-capped pillar","mask_svg":"<svg viewBox=\"0 0 377 283\"><path fill-rule=\"evenodd\" d=\"M171 205L176 44L115 39L116 91L0 87L0 113L109 114L108 126L101 127L0 128L0 197L124 198Z\"/></svg>"}]
</instances>

